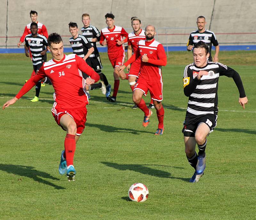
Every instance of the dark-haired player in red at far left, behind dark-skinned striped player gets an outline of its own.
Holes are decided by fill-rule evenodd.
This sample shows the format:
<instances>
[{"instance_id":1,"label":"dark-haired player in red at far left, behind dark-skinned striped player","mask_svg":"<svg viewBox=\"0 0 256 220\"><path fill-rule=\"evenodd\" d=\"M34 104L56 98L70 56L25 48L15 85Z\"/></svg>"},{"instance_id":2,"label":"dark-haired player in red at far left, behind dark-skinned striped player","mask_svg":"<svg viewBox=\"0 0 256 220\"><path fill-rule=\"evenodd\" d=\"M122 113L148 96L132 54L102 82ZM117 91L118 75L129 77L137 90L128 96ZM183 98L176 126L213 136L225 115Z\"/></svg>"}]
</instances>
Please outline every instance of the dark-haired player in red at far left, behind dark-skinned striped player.
<instances>
[{"instance_id":1,"label":"dark-haired player in red at far left, behind dark-skinned striped player","mask_svg":"<svg viewBox=\"0 0 256 220\"><path fill-rule=\"evenodd\" d=\"M46 29L46 27L45 27L44 24L42 24L42 23L40 23L40 22L37 21L37 12L31 10L31 11L29 12L29 14L30 14L30 18L31 18L31 23L32 23L32 22L37 23L38 34L45 36L46 39L47 39L47 38L48 38L47 29ZM24 42L25 37L26 37L28 34L31 34L31 30L30 30L30 25L31 25L31 23L29 23L29 24L26 25L26 27L25 27L25 29L24 29L24 32L23 32L22 36L20 37L20 41L19 41L19 43L17 44L18 47L20 47L21 43ZM32 60L32 55L31 55L31 52L30 52L30 51L29 51L29 54L30 54L30 58L31 58L31 60ZM33 70L32 74L31 74L31 77L34 76L35 74L36 74L36 73L35 73L35 71Z\"/></svg>"}]
</instances>

